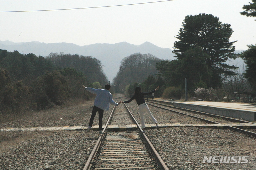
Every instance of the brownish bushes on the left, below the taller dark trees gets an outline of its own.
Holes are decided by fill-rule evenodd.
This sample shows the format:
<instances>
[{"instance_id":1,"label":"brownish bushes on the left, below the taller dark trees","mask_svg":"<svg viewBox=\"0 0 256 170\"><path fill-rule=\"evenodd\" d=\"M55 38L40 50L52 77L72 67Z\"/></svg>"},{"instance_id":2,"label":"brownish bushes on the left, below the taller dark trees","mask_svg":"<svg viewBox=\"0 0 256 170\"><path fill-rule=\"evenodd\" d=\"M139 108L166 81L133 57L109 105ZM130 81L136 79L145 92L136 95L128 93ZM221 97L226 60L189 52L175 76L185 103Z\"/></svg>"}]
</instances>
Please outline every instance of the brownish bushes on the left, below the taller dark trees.
<instances>
[{"instance_id":1,"label":"brownish bushes on the left, below the taller dark trees","mask_svg":"<svg viewBox=\"0 0 256 170\"><path fill-rule=\"evenodd\" d=\"M0 114L51 108L70 99L89 100L91 96L81 89L87 84L85 75L73 68L48 72L27 85L14 81L7 69L0 68Z\"/></svg>"}]
</instances>

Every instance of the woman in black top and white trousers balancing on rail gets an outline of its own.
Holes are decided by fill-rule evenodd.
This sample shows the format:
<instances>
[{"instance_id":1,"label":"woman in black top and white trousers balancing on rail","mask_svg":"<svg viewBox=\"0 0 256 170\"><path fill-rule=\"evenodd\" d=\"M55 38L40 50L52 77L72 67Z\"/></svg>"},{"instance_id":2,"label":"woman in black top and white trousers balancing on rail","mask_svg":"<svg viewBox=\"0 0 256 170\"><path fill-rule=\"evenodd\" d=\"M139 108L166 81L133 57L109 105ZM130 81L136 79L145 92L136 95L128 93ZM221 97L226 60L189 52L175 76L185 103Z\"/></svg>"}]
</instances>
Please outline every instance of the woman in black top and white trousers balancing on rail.
<instances>
[{"instance_id":1,"label":"woman in black top and white trousers balancing on rail","mask_svg":"<svg viewBox=\"0 0 256 170\"><path fill-rule=\"evenodd\" d=\"M158 122L156 121L154 116L151 114L151 112L148 108L148 105L145 103L145 100L144 100L144 95L150 95L158 89L159 89L159 86L156 87L156 89L154 91L142 93L140 91L140 86L137 86L137 87L135 87L135 93L132 96L132 98L130 98L130 100L121 102L121 103L130 103L133 99L136 100L137 104L139 105L140 121L142 124L142 130L143 130L142 132L143 133L145 133L144 112L146 112L149 115L149 117L152 119L153 123L156 124L157 130L159 130L159 126L157 124Z\"/></svg>"}]
</instances>

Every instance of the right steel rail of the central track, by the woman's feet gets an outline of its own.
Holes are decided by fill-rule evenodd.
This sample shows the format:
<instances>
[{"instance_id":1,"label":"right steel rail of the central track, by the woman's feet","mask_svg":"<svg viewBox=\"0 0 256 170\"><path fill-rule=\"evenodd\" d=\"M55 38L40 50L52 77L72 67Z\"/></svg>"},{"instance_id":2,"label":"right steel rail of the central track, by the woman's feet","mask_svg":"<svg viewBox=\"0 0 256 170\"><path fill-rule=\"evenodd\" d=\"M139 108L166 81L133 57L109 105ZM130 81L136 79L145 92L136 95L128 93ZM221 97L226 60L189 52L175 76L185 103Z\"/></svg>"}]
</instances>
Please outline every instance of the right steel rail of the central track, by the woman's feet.
<instances>
[{"instance_id":1,"label":"right steel rail of the central track, by the woman's feet","mask_svg":"<svg viewBox=\"0 0 256 170\"><path fill-rule=\"evenodd\" d=\"M156 149L154 148L154 146L152 145L152 143L150 142L150 140L148 139L148 137L142 133L142 128L140 127L138 121L133 117L132 113L129 111L128 107L126 106L126 104L124 103L124 106L126 107L127 111L129 112L130 116L133 118L134 122L136 123L138 129L140 130L142 137L144 138L144 141L146 142L146 144L149 146L152 154L154 155L159 167L161 170L169 170L167 168L167 166L165 165L164 161L162 160L162 158L160 157L160 155L158 154L158 152L156 151Z\"/></svg>"}]
</instances>

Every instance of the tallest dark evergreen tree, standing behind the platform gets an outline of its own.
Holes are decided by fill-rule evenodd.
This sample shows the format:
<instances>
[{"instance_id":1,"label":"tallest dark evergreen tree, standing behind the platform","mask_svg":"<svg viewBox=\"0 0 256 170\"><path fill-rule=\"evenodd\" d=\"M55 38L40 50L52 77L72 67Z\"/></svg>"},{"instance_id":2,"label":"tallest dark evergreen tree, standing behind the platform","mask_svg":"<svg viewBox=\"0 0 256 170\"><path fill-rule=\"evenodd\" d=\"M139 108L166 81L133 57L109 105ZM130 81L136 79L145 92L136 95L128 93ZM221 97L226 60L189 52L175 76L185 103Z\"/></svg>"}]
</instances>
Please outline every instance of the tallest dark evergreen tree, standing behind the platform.
<instances>
[{"instance_id":1,"label":"tallest dark evergreen tree, standing behind the platform","mask_svg":"<svg viewBox=\"0 0 256 170\"><path fill-rule=\"evenodd\" d=\"M222 24L218 17L204 13L186 16L183 21L183 28L180 29L176 36L179 41L174 43L176 58L182 62L184 58L188 57L188 55L184 54L187 50L201 48L204 58L200 62L206 64L208 67L206 72L211 74L209 86L213 88L220 87L222 85L220 75L234 74L232 69L238 68L225 64L228 58L235 59L237 57L234 53L235 46L233 46L236 41L229 42L229 38L233 33L230 24ZM200 53L198 55L201 55ZM191 57L196 56L193 55ZM181 66L188 67L190 62L187 62L187 64L181 64ZM203 63L199 63L199 65L204 67Z\"/></svg>"}]
</instances>

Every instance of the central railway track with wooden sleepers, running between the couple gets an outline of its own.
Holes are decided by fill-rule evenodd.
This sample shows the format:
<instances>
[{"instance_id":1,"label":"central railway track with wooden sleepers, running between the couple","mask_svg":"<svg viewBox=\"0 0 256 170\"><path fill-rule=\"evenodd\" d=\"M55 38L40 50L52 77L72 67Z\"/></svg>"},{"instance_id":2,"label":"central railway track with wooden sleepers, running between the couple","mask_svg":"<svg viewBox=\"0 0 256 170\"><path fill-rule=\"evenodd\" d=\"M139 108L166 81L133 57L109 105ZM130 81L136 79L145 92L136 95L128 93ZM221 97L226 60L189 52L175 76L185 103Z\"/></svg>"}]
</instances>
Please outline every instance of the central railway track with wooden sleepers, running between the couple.
<instances>
[{"instance_id":1,"label":"central railway track with wooden sleepers, running between the couple","mask_svg":"<svg viewBox=\"0 0 256 170\"><path fill-rule=\"evenodd\" d=\"M108 131L107 125L111 124L116 109L114 106L103 134L98 138L83 170L168 170L126 105L122 104L118 107L126 108L129 113L127 119L133 121L138 130Z\"/></svg>"}]
</instances>

